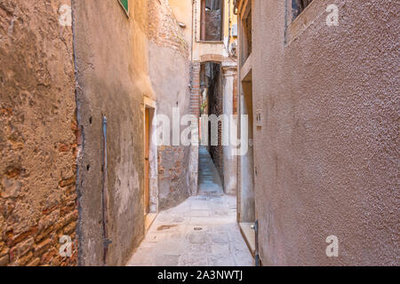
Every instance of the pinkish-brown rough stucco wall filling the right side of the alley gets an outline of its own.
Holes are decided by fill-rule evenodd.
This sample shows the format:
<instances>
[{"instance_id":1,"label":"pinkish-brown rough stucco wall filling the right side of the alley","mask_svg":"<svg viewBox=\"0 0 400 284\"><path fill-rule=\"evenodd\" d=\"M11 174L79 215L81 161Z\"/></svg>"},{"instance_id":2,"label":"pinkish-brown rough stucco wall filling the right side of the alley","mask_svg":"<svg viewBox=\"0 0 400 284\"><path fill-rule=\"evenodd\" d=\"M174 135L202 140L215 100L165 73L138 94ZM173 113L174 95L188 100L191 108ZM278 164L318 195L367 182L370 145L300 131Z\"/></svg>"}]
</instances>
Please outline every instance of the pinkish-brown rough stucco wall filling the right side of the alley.
<instances>
[{"instance_id":1,"label":"pinkish-brown rough stucco wall filling the right side of the alley","mask_svg":"<svg viewBox=\"0 0 400 284\"><path fill-rule=\"evenodd\" d=\"M332 3L338 27L325 24ZM399 265L400 6L313 5L319 16L285 45L284 1L253 1L253 105L264 115L254 130L262 261ZM329 235L339 238L339 257L325 255Z\"/></svg>"}]
</instances>

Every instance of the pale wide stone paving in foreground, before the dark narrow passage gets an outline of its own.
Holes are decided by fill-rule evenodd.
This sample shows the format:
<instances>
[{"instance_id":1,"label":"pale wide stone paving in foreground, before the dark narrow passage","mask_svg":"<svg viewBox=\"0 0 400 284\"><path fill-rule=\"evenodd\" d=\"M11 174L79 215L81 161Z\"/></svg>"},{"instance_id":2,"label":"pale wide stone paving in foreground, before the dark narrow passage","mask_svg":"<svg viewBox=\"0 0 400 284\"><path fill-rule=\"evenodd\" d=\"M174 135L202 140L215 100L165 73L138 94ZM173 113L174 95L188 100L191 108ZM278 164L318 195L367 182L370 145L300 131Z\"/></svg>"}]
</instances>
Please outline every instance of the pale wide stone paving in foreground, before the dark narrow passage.
<instances>
[{"instance_id":1,"label":"pale wide stone paving in foreground, before the dark narrow passage","mask_svg":"<svg viewBox=\"0 0 400 284\"><path fill-rule=\"evenodd\" d=\"M228 195L221 197L225 204L233 199L236 198ZM191 210L192 201L197 202L196 196L185 201L189 205L181 207L187 209L183 217L182 213L175 214L174 209L159 213L127 265L254 265L236 224L236 212L227 217L213 214L210 198L205 201L207 210Z\"/></svg>"}]
</instances>

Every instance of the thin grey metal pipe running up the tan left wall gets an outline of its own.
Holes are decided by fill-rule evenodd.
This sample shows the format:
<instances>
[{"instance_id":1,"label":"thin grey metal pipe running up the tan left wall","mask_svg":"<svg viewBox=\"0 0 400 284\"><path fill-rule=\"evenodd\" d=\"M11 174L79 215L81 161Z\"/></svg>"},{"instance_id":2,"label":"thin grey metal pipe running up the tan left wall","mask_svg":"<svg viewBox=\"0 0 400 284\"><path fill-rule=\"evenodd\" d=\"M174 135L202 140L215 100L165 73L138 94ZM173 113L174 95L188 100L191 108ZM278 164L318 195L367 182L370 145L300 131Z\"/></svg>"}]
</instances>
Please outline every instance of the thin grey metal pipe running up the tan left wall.
<instances>
[{"instance_id":1,"label":"thin grey metal pipe running up the tan left wall","mask_svg":"<svg viewBox=\"0 0 400 284\"><path fill-rule=\"evenodd\" d=\"M103 217L103 264L107 264L108 246L111 240L108 239L108 179L107 179L107 117L103 116L103 190L101 194L102 217Z\"/></svg>"}]
</instances>

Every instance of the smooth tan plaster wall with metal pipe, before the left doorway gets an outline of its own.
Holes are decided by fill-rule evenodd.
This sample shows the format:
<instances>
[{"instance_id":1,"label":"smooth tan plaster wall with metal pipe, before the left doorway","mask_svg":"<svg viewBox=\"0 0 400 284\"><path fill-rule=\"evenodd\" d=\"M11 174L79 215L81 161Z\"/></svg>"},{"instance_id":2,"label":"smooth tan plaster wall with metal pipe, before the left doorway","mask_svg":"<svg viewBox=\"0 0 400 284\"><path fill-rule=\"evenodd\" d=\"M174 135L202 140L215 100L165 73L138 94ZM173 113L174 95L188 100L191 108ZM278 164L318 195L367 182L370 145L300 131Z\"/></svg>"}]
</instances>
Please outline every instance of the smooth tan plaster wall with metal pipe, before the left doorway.
<instances>
[{"instance_id":1,"label":"smooth tan plaster wall with metal pipe, before the left doorway","mask_svg":"<svg viewBox=\"0 0 400 284\"><path fill-rule=\"evenodd\" d=\"M148 83L147 1L73 4L79 128L79 263L102 264L102 115L108 120L107 264L125 264L144 234L143 95Z\"/></svg>"}]
</instances>

